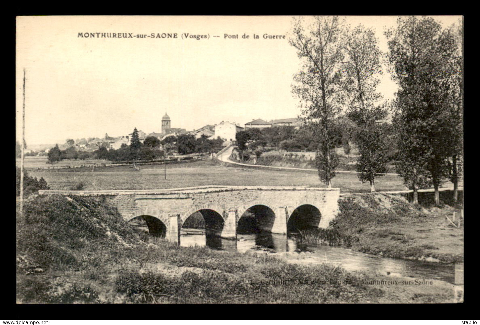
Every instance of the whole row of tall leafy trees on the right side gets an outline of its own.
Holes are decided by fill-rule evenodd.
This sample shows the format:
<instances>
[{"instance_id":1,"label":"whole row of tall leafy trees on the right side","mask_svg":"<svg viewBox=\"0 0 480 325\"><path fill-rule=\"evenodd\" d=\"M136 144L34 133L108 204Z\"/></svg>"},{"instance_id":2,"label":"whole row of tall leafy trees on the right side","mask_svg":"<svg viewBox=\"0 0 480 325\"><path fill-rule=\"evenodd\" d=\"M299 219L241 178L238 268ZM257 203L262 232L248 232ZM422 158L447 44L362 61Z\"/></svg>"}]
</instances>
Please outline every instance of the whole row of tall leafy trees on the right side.
<instances>
[{"instance_id":1,"label":"whole row of tall leafy trees on the right side","mask_svg":"<svg viewBox=\"0 0 480 325\"><path fill-rule=\"evenodd\" d=\"M388 139L381 121L393 114L397 171L414 192L432 186L439 204L439 186L449 179L457 199L463 165L462 22L448 28L428 17L400 17L386 30L388 51L382 53L372 29L348 26L336 16L299 18L289 43L302 68L294 75L292 92L302 117L316 139L318 174L332 186L338 157L337 121L346 111L354 123L350 135L360 153L357 171L362 182L384 175ZM387 103L377 90L382 58L399 85ZM344 141L345 142L345 141Z\"/></svg>"}]
</instances>

